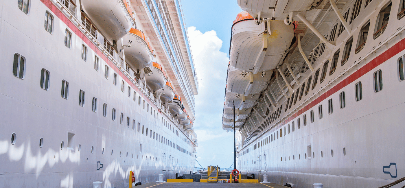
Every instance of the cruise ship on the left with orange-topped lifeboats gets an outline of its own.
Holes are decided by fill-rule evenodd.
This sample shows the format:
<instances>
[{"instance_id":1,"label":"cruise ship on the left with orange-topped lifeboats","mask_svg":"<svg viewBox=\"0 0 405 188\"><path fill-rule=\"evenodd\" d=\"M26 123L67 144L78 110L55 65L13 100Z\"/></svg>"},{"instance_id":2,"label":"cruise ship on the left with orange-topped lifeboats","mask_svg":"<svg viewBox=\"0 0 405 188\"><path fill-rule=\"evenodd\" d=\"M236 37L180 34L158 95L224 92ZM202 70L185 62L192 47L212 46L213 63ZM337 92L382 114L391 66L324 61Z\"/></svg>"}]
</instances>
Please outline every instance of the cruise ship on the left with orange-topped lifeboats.
<instances>
[{"instance_id":1,"label":"cruise ship on the left with orange-topped lifeboats","mask_svg":"<svg viewBox=\"0 0 405 188\"><path fill-rule=\"evenodd\" d=\"M179 0L0 0L0 185L128 187L194 171Z\"/></svg>"}]
</instances>

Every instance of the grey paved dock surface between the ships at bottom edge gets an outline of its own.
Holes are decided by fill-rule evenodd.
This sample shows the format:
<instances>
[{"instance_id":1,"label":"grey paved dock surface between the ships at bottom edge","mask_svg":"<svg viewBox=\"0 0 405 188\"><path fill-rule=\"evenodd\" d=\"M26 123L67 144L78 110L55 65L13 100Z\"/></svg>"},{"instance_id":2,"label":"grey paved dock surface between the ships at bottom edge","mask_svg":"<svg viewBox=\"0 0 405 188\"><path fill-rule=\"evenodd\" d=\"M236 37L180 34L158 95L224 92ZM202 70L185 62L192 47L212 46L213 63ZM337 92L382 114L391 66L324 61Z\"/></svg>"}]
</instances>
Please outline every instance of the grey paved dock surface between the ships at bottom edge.
<instances>
[{"instance_id":1,"label":"grey paved dock surface between the ships at bottom edge","mask_svg":"<svg viewBox=\"0 0 405 188\"><path fill-rule=\"evenodd\" d=\"M183 183L183 182L169 182L169 183L147 183L133 188L286 188L279 184L248 184L248 183Z\"/></svg>"}]
</instances>

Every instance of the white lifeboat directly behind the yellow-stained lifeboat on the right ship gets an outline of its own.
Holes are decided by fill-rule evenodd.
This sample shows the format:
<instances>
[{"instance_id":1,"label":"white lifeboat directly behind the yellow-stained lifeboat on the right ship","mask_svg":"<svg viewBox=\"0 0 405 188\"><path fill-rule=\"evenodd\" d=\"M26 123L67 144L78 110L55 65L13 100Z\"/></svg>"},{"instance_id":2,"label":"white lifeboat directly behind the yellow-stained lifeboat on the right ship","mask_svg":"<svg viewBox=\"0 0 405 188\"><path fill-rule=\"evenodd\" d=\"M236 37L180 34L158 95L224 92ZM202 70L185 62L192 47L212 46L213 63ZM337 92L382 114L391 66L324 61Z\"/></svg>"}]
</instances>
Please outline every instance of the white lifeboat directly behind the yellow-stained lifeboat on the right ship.
<instances>
[{"instance_id":1,"label":"white lifeboat directly behind the yellow-stained lifeboat on the right ship","mask_svg":"<svg viewBox=\"0 0 405 188\"><path fill-rule=\"evenodd\" d=\"M258 74L250 72L243 77L241 71L232 66L228 66L227 87L231 92L244 94L245 96L261 93L269 84L272 74L272 71L261 72Z\"/></svg>"}]
</instances>

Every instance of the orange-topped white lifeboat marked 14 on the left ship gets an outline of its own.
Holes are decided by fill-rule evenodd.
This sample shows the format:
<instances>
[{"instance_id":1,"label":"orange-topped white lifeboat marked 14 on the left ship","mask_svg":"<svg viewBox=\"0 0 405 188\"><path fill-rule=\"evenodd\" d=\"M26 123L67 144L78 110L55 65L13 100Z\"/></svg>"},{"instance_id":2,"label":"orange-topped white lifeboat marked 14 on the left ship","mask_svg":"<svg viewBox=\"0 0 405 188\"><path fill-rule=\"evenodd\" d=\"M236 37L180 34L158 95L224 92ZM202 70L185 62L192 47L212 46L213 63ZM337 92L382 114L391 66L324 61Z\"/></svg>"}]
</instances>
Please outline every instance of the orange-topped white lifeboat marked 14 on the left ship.
<instances>
[{"instance_id":1,"label":"orange-topped white lifeboat marked 14 on the left ship","mask_svg":"<svg viewBox=\"0 0 405 188\"><path fill-rule=\"evenodd\" d=\"M123 37L125 60L134 70L142 70L149 66L153 59L152 49L145 38L145 34L139 29L131 28Z\"/></svg>"}]
</instances>

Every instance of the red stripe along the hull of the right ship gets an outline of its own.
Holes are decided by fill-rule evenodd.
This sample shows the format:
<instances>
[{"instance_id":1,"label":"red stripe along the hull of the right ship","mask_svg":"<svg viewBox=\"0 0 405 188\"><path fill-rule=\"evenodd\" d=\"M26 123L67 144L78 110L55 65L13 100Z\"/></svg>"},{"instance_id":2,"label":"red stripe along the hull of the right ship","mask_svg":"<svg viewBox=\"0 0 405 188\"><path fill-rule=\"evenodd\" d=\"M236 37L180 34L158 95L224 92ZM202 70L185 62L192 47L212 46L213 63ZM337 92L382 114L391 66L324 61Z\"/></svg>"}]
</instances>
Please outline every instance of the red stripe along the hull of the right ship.
<instances>
[{"instance_id":1,"label":"red stripe along the hull of the right ship","mask_svg":"<svg viewBox=\"0 0 405 188\"><path fill-rule=\"evenodd\" d=\"M364 66L362 66L361 68L359 68L356 72L349 75L343 81L336 84L333 88L326 91L324 94L322 94L321 96L319 96L318 98L313 100L311 103L309 103L308 105L306 105L302 109L298 110L296 113L291 115L290 118L288 118L287 120L284 120L281 123L281 126L287 124L291 120L294 120L294 118L298 117L298 115L301 115L302 113L308 111L309 109L311 109L315 105L318 105L321 101L325 100L326 98L328 98L329 96L331 96L335 92L341 90L343 87L349 85L350 83L352 83L356 79L360 78L361 76L365 75L369 71L373 70L373 68L375 68L375 67L379 66L380 64L386 62L388 59L392 58L393 56L395 56L399 52L403 51L404 49L405 49L405 38L402 39L401 41L399 41L399 43L396 43L394 46L390 47L390 49L387 49L387 51L384 51L384 53L382 53L381 55L379 55L376 58L374 58L373 60L371 60L369 63L367 63Z\"/></svg>"}]
</instances>

